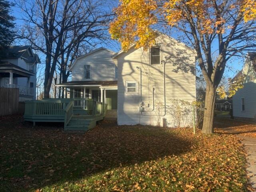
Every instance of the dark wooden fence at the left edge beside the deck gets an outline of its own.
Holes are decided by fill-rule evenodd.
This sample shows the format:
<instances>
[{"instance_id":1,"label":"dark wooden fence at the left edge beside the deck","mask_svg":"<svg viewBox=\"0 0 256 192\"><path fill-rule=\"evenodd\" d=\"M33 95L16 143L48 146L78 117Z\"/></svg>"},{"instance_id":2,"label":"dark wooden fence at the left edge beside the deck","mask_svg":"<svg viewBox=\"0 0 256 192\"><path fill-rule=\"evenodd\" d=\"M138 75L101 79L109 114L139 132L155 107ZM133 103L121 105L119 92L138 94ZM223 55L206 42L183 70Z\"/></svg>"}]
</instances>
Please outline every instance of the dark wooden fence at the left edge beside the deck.
<instances>
[{"instance_id":1,"label":"dark wooden fence at the left edge beside the deck","mask_svg":"<svg viewBox=\"0 0 256 192\"><path fill-rule=\"evenodd\" d=\"M19 89L0 87L0 116L18 113Z\"/></svg>"}]
</instances>

